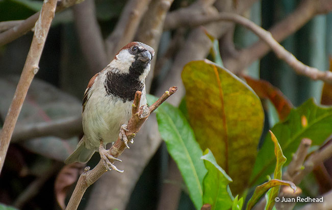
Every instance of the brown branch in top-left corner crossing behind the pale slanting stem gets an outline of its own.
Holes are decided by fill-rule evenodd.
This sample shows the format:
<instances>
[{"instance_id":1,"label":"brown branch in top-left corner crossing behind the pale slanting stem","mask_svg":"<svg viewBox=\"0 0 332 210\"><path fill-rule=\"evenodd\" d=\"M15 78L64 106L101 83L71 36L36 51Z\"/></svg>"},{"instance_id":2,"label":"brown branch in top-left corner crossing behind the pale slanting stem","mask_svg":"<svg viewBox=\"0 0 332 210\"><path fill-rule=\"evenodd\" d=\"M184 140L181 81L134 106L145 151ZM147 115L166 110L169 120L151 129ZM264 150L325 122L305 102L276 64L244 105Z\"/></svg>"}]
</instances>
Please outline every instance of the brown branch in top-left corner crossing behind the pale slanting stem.
<instances>
[{"instance_id":1,"label":"brown branch in top-left corner crossing behind the pale slanting stem","mask_svg":"<svg viewBox=\"0 0 332 210\"><path fill-rule=\"evenodd\" d=\"M67 7L70 7L74 4L81 3L82 0L67 0L61 1L57 5L56 12L60 12ZM15 39L23 36L25 33L29 32L35 25L40 12L35 13L34 15L30 16L29 18L22 21L20 24L16 25L15 27L3 32L0 34L0 46L5 45L9 42L14 41Z\"/></svg>"}]
</instances>

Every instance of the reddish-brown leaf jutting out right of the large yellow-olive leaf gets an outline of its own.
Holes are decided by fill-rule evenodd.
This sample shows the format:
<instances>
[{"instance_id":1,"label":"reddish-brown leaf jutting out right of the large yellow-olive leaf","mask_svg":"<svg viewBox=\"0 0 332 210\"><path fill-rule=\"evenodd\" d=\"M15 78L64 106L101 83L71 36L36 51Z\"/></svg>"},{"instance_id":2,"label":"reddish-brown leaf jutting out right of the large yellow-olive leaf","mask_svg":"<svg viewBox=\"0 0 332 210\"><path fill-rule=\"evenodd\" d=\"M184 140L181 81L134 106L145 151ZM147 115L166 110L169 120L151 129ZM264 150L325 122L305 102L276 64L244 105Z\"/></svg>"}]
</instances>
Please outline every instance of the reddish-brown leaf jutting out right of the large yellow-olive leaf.
<instances>
[{"instance_id":1,"label":"reddish-brown leaf jutting out right of the large yellow-olive leaf","mask_svg":"<svg viewBox=\"0 0 332 210\"><path fill-rule=\"evenodd\" d=\"M265 80L256 80L250 76L244 76L244 78L259 97L271 100L278 112L280 120L287 118L293 108L293 104L278 88Z\"/></svg>"}]
</instances>

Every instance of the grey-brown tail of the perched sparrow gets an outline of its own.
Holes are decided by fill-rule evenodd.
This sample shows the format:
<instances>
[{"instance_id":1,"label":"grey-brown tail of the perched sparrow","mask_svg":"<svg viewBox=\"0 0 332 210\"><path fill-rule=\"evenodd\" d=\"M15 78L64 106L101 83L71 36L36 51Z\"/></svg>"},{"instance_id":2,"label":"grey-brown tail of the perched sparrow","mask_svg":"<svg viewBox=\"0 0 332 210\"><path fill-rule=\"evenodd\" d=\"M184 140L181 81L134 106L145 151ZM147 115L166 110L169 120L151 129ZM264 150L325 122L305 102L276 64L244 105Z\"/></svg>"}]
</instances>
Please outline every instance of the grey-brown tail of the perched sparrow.
<instances>
[{"instance_id":1,"label":"grey-brown tail of the perched sparrow","mask_svg":"<svg viewBox=\"0 0 332 210\"><path fill-rule=\"evenodd\" d=\"M95 150L86 148L84 139L85 137L81 139L75 151L73 151L73 153L71 153L65 160L65 164L71 164L75 162L86 163L90 160Z\"/></svg>"}]
</instances>

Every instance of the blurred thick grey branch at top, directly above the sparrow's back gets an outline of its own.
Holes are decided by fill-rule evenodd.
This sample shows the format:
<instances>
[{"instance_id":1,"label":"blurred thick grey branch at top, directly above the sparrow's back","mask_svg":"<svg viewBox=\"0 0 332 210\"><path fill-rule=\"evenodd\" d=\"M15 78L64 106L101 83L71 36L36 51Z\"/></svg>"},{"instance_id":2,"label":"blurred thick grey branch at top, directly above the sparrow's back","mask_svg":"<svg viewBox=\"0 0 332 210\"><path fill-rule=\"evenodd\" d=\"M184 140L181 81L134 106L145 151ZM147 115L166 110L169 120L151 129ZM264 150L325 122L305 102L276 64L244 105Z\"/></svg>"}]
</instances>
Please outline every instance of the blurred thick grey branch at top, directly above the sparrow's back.
<instances>
[{"instance_id":1,"label":"blurred thick grey branch at top, directly above the sparrow's back","mask_svg":"<svg viewBox=\"0 0 332 210\"><path fill-rule=\"evenodd\" d=\"M82 53L88 63L91 75L94 75L108 63L103 36L95 14L94 1L86 0L79 5L74 5L73 12Z\"/></svg>"}]
</instances>

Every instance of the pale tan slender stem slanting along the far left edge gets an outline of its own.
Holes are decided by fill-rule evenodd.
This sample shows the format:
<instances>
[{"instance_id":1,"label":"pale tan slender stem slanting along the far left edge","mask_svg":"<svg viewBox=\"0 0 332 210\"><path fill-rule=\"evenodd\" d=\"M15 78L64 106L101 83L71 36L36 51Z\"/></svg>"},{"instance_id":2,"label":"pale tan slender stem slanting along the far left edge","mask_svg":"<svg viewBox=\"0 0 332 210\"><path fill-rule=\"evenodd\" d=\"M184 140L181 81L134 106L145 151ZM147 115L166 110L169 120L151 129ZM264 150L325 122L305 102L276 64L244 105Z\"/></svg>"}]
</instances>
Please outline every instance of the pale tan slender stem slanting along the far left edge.
<instances>
[{"instance_id":1,"label":"pale tan slender stem slanting along the far left edge","mask_svg":"<svg viewBox=\"0 0 332 210\"><path fill-rule=\"evenodd\" d=\"M13 101L9 107L3 130L0 134L0 172L5 162L6 153L9 147L10 139L13 134L18 114L21 111L22 104L25 96L27 95L30 84L35 74L39 70L38 64L41 57L41 52L45 44L50 23L54 18L56 6L57 0L45 0L41 8L39 18L35 24L35 33L32 39L29 54L27 60L25 61Z\"/></svg>"}]
</instances>

